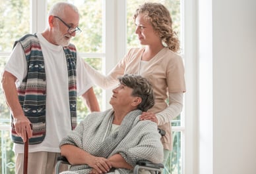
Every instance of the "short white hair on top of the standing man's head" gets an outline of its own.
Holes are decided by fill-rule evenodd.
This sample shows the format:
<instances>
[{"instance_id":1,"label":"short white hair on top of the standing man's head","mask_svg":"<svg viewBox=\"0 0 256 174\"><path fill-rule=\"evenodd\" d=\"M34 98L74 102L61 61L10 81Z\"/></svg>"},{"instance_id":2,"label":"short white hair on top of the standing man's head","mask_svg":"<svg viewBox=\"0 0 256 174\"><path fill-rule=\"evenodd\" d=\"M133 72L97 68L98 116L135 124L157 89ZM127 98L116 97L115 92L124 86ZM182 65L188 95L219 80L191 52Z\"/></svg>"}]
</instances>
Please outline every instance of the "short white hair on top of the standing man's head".
<instances>
[{"instance_id":1,"label":"short white hair on top of the standing man's head","mask_svg":"<svg viewBox=\"0 0 256 174\"><path fill-rule=\"evenodd\" d=\"M49 10L48 16L63 16L65 14L65 8L66 7L71 7L75 12L79 13L79 9L71 3L66 3L66 2L59 2L55 3L51 9Z\"/></svg>"}]
</instances>

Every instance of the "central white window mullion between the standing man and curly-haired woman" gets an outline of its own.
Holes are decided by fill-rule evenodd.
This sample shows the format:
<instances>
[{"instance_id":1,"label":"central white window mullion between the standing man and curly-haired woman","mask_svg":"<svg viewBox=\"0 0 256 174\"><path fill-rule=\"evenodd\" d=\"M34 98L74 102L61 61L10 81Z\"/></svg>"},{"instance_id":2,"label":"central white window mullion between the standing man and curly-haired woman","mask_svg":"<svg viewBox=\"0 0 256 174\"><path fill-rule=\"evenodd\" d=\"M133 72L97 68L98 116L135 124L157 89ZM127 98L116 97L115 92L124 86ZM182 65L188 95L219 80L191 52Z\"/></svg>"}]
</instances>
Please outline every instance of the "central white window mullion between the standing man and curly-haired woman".
<instances>
[{"instance_id":1,"label":"central white window mullion between the standing man and curly-haired woman","mask_svg":"<svg viewBox=\"0 0 256 174\"><path fill-rule=\"evenodd\" d=\"M126 51L126 1L105 0L104 21L106 60L104 74L107 74L123 58ZM106 108L110 108L111 90L105 91Z\"/></svg>"}]
</instances>

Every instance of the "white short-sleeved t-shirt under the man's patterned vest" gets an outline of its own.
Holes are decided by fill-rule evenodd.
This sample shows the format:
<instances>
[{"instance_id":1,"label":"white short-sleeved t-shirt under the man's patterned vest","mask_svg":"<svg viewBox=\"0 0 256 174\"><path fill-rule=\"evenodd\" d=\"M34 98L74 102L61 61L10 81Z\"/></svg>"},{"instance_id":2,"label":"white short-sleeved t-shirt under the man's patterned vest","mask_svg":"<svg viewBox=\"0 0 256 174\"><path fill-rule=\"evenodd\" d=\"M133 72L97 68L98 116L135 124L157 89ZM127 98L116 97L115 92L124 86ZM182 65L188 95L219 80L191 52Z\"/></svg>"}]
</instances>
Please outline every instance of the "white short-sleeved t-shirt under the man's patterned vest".
<instances>
[{"instance_id":1,"label":"white short-sleeved t-shirt under the man's patterned vest","mask_svg":"<svg viewBox=\"0 0 256 174\"><path fill-rule=\"evenodd\" d=\"M40 144L30 145L29 152L60 152L59 142L71 131L67 61L63 47L49 43L41 33L36 34L42 47L46 69L46 137ZM92 87L92 81L77 54L77 96ZM16 85L27 74L26 58L20 43L11 53L5 70L17 77ZM24 145L14 144L15 153L22 153Z\"/></svg>"}]
</instances>

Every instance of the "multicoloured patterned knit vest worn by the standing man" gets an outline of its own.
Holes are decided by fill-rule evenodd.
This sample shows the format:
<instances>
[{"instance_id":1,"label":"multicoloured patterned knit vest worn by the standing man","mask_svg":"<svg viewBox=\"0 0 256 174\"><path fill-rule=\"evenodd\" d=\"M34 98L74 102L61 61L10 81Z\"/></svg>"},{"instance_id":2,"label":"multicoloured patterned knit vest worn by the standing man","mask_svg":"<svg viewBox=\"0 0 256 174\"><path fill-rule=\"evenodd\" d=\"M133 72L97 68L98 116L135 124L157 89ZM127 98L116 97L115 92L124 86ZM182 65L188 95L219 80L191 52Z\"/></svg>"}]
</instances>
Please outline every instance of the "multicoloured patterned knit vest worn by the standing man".
<instances>
[{"instance_id":1,"label":"multicoloured patterned knit vest worn by the standing man","mask_svg":"<svg viewBox=\"0 0 256 174\"><path fill-rule=\"evenodd\" d=\"M39 144L46 137L46 72L44 56L38 37L32 34L24 35L15 42L22 45L27 62L28 73L18 87L18 100L22 106L24 115L32 123L33 136L29 144ZM14 45L14 47L15 47ZM77 126L77 84L76 84L76 62L77 52L74 45L63 47L67 60L69 79L69 108L71 114L71 127ZM11 116L12 140L15 143L23 144L21 137L18 137Z\"/></svg>"}]
</instances>

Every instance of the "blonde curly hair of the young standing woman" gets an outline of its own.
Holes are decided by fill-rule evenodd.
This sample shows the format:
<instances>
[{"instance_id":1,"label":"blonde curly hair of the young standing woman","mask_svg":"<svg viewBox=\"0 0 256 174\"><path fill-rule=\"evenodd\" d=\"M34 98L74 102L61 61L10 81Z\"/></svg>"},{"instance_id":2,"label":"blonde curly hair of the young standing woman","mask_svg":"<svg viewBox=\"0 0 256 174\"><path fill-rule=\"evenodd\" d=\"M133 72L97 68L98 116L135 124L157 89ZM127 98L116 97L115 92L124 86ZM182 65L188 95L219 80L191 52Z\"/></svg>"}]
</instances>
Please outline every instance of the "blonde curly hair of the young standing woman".
<instances>
[{"instance_id":1,"label":"blonde curly hair of the young standing woman","mask_svg":"<svg viewBox=\"0 0 256 174\"><path fill-rule=\"evenodd\" d=\"M160 3L144 3L135 11L133 19L139 14L144 14L144 18L152 24L154 31L162 39L164 46L167 46L175 53L179 52L179 39L176 32L172 30L172 18L170 12Z\"/></svg>"}]
</instances>

